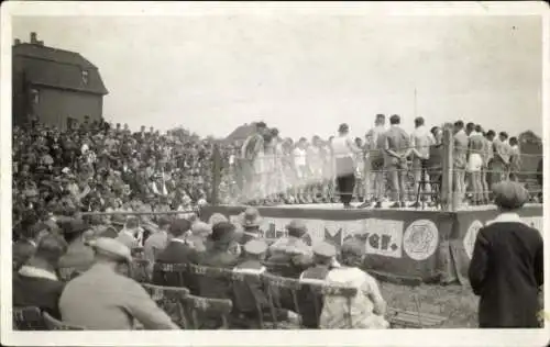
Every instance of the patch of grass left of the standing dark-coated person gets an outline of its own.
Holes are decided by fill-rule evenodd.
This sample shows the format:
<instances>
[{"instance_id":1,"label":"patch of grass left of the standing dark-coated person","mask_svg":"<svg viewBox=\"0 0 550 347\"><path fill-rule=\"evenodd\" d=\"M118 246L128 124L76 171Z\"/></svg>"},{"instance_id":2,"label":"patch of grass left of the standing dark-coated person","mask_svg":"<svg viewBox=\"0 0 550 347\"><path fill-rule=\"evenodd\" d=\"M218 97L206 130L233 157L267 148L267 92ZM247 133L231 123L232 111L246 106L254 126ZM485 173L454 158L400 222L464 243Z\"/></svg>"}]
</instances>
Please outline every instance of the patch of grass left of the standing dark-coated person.
<instances>
[{"instance_id":1,"label":"patch of grass left of the standing dark-coated person","mask_svg":"<svg viewBox=\"0 0 550 347\"><path fill-rule=\"evenodd\" d=\"M439 328L477 327L477 296L469 286L421 284L411 288L381 281L378 284L391 307L416 312L416 294L420 312L448 318Z\"/></svg>"}]
</instances>

